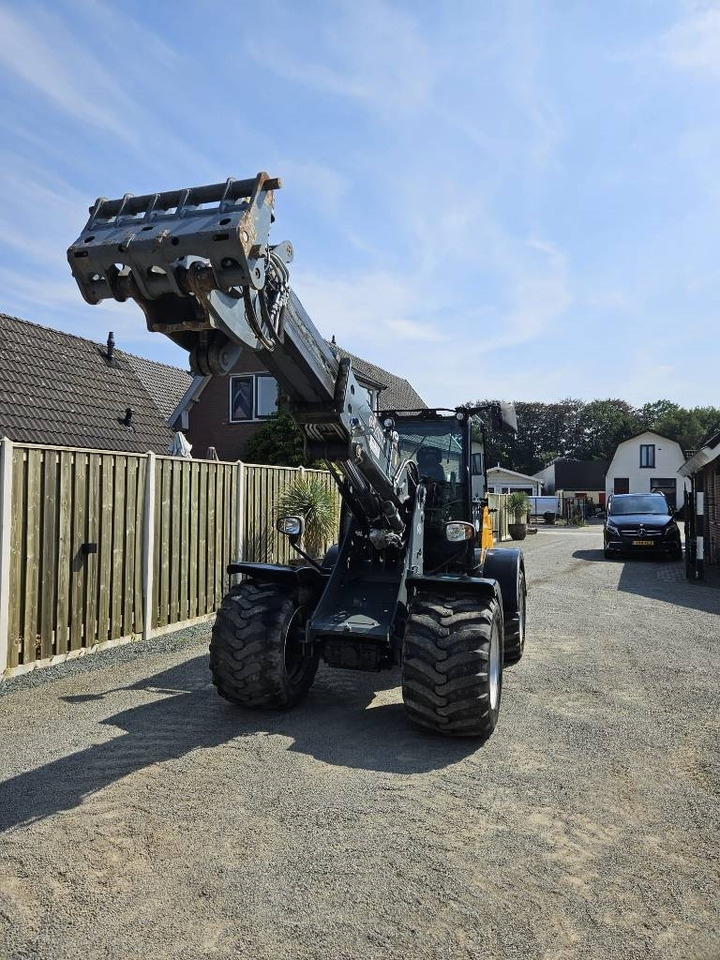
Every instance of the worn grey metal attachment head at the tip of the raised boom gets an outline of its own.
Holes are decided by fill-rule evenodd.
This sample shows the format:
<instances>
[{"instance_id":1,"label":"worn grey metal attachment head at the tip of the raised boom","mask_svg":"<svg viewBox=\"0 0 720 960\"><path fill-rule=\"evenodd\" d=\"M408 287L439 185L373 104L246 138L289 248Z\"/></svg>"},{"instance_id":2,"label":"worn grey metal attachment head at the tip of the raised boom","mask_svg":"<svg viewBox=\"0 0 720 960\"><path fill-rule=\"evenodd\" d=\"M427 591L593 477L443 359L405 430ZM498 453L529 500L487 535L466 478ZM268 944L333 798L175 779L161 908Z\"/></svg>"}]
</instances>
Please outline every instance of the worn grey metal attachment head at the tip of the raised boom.
<instances>
[{"instance_id":1,"label":"worn grey metal attachment head at the tip of the raised boom","mask_svg":"<svg viewBox=\"0 0 720 960\"><path fill-rule=\"evenodd\" d=\"M261 172L98 199L67 253L83 297L135 300L148 328L188 349L199 373L227 372L243 344L272 350L283 336L292 260L289 243L268 243L280 187Z\"/></svg>"}]
</instances>

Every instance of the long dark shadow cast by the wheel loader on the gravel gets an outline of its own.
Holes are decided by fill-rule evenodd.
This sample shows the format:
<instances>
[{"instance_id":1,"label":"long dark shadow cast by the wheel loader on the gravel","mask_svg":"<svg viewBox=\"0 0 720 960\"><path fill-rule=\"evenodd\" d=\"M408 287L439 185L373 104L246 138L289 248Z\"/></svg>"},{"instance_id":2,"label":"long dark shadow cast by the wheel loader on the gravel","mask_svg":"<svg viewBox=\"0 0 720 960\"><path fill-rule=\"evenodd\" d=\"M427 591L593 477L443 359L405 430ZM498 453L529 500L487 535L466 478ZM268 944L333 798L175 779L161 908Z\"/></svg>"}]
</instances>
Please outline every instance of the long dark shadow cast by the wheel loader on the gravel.
<instances>
[{"instance_id":1,"label":"long dark shadow cast by the wheel loader on the gravel","mask_svg":"<svg viewBox=\"0 0 720 960\"><path fill-rule=\"evenodd\" d=\"M450 766L481 746L476 739L424 733L410 723L400 702L373 706L378 693L398 683L394 671L348 677L346 671L321 669L299 707L256 712L217 696L207 656L201 655L127 687L64 697L79 704L119 691L165 694L98 721L124 734L0 783L0 831L77 807L86 796L152 764L259 732L291 738L290 750L325 763L404 774Z\"/></svg>"}]
</instances>

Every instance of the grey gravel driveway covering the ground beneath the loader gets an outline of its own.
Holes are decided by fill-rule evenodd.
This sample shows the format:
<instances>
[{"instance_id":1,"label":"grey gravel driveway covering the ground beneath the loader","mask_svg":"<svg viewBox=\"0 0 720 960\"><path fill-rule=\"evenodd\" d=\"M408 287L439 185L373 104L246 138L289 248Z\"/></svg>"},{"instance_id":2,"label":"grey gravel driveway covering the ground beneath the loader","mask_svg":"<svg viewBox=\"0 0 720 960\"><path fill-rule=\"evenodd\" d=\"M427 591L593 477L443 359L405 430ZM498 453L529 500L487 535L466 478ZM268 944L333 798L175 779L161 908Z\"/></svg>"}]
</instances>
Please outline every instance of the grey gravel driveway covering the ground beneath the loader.
<instances>
[{"instance_id":1,"label":"grey gravel driveway covering the ground beneath the loader","mask_svg":"<svg viewBox=\"0 0 720 960\"><path fill-rule=\"evenodd\" d=\"M206 627L6 682L0 956L720 957L720 590L601 545L523 544L484 746L411 727L397 674L235 710Z\"/></svg>"}]
</instances>

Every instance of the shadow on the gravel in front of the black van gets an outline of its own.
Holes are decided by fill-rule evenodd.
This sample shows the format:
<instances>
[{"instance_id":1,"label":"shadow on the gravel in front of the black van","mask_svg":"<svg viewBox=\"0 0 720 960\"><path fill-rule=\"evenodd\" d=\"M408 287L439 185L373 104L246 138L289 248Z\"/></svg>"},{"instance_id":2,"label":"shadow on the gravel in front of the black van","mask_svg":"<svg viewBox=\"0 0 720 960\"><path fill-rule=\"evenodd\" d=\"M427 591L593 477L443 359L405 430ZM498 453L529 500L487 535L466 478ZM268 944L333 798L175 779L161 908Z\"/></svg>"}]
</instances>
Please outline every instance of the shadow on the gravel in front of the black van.
<instances>
[{"instance_id":1,"label":"shadow on the gravel in front of the black van","mask_svg":"<svg viewBox=\"0 0 720 960\"><path fill-rule=\"evenodd\" d=\"M684 565L677 561L643 555L606 560L602 550L575 550L573 559L621 567L617 589L623 593L634 593L703 613L720 613L720 590L688 580Z\"/></svg>"}]
</instances>

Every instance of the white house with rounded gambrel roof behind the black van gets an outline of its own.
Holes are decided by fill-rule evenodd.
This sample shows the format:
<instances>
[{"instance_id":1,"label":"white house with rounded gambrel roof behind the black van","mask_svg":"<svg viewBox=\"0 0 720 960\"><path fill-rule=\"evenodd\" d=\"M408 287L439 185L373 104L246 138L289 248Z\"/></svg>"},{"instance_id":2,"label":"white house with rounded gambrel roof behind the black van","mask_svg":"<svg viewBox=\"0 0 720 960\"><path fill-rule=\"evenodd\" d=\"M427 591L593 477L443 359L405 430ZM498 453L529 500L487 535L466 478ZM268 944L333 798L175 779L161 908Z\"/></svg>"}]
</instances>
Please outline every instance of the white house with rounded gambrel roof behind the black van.
<instances>
[{"instance_id":1,"label":"white house with rounded gambrel roof behind the black van","mask_svg":"<svg viewBox=\"0 0 720 960\"><path fill-rule=\"evenodd\" d=\"M679 507L687 488L680 474L684 463L679 443L645 430L618 444L605 480L607 494L658 490L671 506Z\"/></svg>"}]
</instances>

